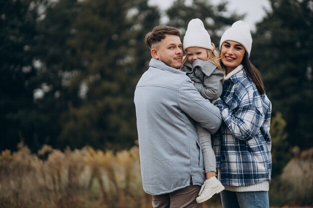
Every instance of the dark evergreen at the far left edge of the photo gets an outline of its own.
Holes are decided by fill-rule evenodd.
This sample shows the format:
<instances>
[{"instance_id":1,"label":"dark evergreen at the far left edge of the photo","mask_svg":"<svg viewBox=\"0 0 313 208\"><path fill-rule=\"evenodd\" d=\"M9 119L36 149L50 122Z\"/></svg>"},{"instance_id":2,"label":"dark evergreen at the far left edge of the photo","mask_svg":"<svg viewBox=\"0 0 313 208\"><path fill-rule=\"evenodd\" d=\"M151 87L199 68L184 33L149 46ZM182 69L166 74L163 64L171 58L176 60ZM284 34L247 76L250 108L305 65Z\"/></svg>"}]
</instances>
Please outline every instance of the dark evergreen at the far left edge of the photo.
<instances>
[{"instance_id":1,"label":"dark evergreen at the far left edge of the photo","mask_svg":"<svg viewBox=\"0 0 313 208\"><path fill-rule=\"evenodd\" d=\"M0 150L15 149L19 141L36 143L31 79L37 73L33 55L40 3L0 0Z\"/></svg>"}]
</instances>

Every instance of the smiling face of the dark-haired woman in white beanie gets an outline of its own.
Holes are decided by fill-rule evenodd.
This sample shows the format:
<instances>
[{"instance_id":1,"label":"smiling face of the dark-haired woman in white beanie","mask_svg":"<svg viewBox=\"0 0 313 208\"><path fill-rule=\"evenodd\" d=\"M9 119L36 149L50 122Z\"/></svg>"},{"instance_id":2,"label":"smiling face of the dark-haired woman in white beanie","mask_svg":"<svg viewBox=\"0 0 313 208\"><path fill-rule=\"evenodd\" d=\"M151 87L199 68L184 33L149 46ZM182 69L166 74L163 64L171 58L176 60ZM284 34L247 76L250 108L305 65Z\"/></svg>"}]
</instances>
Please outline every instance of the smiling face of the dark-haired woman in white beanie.
<instances>
[{"instance_id":1,"label":"smiling face of the dark-haired woman in white beanie","mask_svg":"<svg viewBox=\"0 0 313 208\"><path fill-rule=\"evenodd\" d=\"M226 73L229 73L241 64L245 49L235 41L226 40L222 43L220 49L220 59L226 67Z\"/></svg>"}]
</instances>

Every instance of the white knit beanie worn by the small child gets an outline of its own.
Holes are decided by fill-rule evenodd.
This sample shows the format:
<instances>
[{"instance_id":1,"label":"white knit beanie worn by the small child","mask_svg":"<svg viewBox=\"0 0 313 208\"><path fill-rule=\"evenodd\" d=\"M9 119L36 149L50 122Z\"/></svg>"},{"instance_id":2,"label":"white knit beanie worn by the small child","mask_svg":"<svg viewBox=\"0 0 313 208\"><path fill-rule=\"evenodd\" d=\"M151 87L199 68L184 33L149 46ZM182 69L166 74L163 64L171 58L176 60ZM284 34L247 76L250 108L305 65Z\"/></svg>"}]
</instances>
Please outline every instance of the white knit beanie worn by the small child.
<instances>
[{"instance_id":1,"label":"white knit beanie worn by the small child","mask_svg":"<svg viewBox=\"0 0 313 208\"><path fill-rule=\"evenodd\" d=\"M191 19L183 37L183 50L188 47L212 49L211 38L200 19Z\"/></svg>"}]
</instances>

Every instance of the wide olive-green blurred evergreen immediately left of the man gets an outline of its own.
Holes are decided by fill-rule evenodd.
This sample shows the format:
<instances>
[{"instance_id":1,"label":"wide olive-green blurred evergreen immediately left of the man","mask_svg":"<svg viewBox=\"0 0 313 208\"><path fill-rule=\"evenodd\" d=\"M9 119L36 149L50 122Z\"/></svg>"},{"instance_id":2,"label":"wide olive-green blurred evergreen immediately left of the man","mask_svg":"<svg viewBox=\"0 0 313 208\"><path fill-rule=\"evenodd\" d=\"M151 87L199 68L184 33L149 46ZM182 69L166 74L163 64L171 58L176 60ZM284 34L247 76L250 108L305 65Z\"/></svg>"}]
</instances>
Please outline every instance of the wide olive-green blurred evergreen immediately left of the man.
<instances>
[{"instance_id":1,"label":"wide olive-green blurred evergreen immediately left of the man","mask_svg":"<svg viewBox=\"0 0 313 208\"><path fill-rule=\"evenodd\" d=\"M80 3L68 44L83 66L75 82L82 104L64 114L60 141L77 148L130 147L137 139L133 92L149 56L142 35L158 23L158 11L147 0Z\"/></svg>"}]
</instances>

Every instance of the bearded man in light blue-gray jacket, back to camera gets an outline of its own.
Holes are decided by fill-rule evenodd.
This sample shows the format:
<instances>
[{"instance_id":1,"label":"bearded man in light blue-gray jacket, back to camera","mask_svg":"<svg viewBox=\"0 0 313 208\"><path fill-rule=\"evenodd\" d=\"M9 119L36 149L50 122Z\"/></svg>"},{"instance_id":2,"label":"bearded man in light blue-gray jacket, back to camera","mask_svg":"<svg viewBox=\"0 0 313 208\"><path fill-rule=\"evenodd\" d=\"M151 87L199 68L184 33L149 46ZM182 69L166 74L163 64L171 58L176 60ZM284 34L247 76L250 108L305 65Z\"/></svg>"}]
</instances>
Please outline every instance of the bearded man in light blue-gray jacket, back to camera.
<instances>
[{"instance_id":1,"label":"bearded man in light blue-gray jacket, back to camera","mask_svg":"<svg viewBox=\"0 0 313 208\"><path fill-rule=\"evenodd\" d=\"M217 107L178 70L182 44L177 28L156 26L144 38L148 70L134 93L143 190L153 208L202 208L195 199L204 182L194 121L211 134L220 126Z\"/></svg>"}]
</instances>

